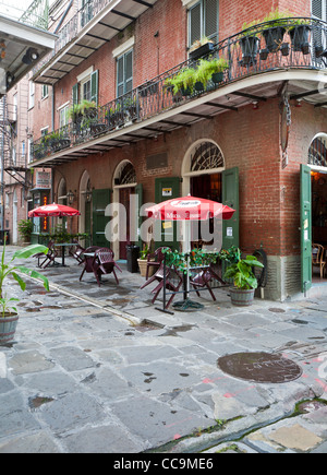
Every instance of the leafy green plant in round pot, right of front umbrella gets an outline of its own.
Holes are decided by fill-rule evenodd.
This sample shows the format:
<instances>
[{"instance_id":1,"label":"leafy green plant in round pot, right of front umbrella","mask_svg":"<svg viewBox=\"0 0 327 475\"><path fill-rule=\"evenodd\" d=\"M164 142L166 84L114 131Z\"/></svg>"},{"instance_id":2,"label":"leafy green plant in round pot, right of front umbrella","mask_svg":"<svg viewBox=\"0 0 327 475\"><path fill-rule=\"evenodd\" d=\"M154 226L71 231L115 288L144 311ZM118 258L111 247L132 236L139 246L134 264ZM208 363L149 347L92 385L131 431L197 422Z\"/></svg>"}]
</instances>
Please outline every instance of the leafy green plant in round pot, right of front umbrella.
<instances>
[{"instance_id":1,"label":"leafy green plant in round pot, right of front umbrella","mask_svg":"<svg viewBox=\"0 0 327 475\"><path fill-rule=\"evenodd\" d=\"M264 268L254 256L246 256L241 259L241 251L238 249L238 261L229 265L223 278L232 278L233 287L230 287L231 302L238 307L250 306L253 302L254 290L257 287L257 280L253 268Z\"/></svg>"}]
</instances>

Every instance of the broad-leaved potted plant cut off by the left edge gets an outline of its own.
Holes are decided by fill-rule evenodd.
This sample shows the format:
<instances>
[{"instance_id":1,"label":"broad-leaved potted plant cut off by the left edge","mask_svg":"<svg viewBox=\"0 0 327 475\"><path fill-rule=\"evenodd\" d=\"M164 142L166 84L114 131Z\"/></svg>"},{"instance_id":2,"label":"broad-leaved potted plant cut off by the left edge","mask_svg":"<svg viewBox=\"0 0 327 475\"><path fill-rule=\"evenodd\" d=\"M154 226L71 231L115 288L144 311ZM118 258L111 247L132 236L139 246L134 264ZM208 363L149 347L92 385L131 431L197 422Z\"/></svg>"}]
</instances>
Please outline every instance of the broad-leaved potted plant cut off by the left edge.
<instances>
[{"instance_id":1,"label":"broad-leaved potted plant cut off by the left edge","mask_svg":"<svg viewBox=\"0 0 327 475\"><path fill-rule=\"evenodd\" d=\"M8 297L4 293L4 282L7 277L12 276L20 285L22 290L25 290L26 283L21 275L23 273L31 275L31 277L40 278L44 282L46 290L49 290L49 282L47 277L35 270L25 268L24 265L14 264L15 259L27 259L37 252L48 252L48 248L41 245L31 245L26 248L15 251L9 262L5 261L5 240L2 249L2 256L0 261L0 345L5 345L14 339L16 325L17 325L17 310L13 306L14 301L19 301L17 298Z\"/></svg>"}]
</instances>

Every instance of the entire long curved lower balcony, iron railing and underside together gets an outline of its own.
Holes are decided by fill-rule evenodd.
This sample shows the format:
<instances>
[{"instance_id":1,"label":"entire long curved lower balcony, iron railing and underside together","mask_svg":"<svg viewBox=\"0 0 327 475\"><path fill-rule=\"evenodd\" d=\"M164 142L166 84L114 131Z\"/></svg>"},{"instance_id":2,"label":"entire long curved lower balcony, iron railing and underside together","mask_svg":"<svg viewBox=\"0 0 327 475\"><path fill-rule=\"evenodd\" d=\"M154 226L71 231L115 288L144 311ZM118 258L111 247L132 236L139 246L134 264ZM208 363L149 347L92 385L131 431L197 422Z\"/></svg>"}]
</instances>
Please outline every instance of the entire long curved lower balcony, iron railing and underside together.
<instances>
[{"instance_id":1,"label":"entire long curved lower balcony, iron railing and underside together","mask_svg":"<svg viewBox=\"0 0 327 475\"><path fill-rule=\"evenodd\" d=\"M185 94L182 90L174 92L169 80L175 80L190 68L199 67L191 58L126 95L100 106L83 127L70 122L59 129L58 132L64 135L62 145L44 146L43 139L36 140L34 151L37 153L29 166L55 167L90 154L155 139L158 134L169 134L178 128L190 128L197 121L210 120L226 111L237 114L246 105L256 109L261 103L271 98L278 98L281 103L287 97L291 105L305 100L316 108L326 108L327 58L325 51L320 51L320 46L326 44L326 26L324 22L312 20L311 41L304 44L303 48L299 48L287 33L283 34L286 50L281 48L283 44L278 47L274 44L274 48L267 52L266 40L261 38L261 48L250 51L250 57L244 55L242 48L243 34L227 38L209 54L209 59L211 55L229 58L220 82L214 84L211 79L202 92L195 91L195 87ZM264 31L263 26L258 28L257 34ZM319 43L316 43L316 38Z\"/></svg>"}]
</instances>

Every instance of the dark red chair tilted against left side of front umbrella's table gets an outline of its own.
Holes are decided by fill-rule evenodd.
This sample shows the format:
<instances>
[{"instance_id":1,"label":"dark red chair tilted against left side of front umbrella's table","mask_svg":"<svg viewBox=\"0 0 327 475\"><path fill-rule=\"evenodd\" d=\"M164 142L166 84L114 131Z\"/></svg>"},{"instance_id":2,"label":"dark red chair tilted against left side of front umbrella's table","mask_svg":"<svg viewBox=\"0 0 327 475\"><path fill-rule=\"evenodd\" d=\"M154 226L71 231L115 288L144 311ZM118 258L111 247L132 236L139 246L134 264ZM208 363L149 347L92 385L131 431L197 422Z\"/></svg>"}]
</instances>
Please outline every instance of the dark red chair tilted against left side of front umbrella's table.
<instances>
[{"instance_id":1,"label":"dark red chair tilted against left side of front umbrella's table","mask_svg":"<svg viewBox=\"0 0 327 475\"><path fill-rule=\"evenodd\" d=\"M162 261L157 272L148 281L146 281L140 288L144 288L147 285L152 284L153 282L157 282L157 286L152 290L152 293L155 294L153 298L153 304L156 301L160 290L164 289L165 284L167 290L171 292L168 302L165 306L165 308L167 309L172 302L175 293L179 292L183 283L183 277L174 268L166 266L166 272L165 272L164 261Z\"/></svg>"}]
</instances>

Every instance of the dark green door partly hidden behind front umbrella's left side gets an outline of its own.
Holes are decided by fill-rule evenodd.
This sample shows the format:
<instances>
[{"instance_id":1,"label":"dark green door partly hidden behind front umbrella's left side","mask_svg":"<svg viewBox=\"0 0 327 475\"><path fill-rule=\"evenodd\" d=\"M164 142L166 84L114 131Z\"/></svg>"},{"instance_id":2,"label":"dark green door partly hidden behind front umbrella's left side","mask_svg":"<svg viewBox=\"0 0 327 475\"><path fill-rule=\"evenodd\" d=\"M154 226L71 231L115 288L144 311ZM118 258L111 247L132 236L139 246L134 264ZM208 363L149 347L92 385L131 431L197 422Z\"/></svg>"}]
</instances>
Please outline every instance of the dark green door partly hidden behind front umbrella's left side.
<instances>
[{"instance_id":1,"label":"dark green door partly hidden behind front umbrella's left side","mask_svg":"<svg viewBox=\"0 0 327 475\"><path fill-rule=\"evenodd\" d=\"M180 198L180 178L156 178L155 200L156 203L171 200L173 198ZM156 249L161 246L168 246L172 249L179 249L179 241L177 236L177 223L173 222L155 222Z\"/></svg>"}]
</instances>

